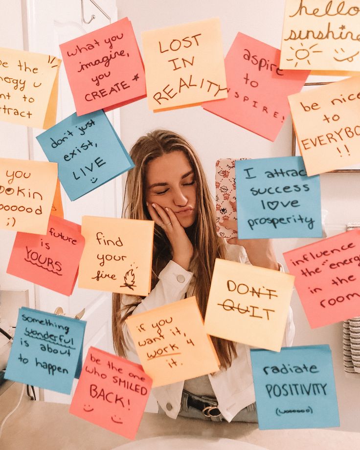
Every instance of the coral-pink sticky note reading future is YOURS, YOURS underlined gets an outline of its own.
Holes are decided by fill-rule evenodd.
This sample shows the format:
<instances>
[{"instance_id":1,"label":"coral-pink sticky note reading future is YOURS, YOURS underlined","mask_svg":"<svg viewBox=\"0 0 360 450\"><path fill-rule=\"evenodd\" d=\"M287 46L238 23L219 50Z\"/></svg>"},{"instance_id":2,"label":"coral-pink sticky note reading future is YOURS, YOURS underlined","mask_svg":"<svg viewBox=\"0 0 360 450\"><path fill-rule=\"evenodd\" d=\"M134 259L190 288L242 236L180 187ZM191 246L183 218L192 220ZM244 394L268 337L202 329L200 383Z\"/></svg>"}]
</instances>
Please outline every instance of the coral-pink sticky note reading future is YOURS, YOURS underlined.
<instances>
[{"instance_id":1,"label":"coral-pink sticky note reading future is YOURS, YOURS underlined","mask_svg":"<svg viewBox=\"0 0 360 450\"><path fill-rule=\"evenodd\" d=\"M71 295L84 245L80 225L51 215L45 236L17 233L6 272Z\"/></svg>"}]
</instances>

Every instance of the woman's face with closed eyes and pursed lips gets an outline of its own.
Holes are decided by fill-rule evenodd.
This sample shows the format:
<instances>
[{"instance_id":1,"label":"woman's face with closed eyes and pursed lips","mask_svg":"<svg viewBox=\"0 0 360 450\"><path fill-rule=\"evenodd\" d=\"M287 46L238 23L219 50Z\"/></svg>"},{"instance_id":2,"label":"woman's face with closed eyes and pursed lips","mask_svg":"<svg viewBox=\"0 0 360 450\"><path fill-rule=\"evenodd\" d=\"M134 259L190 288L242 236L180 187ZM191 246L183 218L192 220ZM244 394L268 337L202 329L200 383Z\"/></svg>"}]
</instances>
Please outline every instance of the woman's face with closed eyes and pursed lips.
<instances>
[{"instance_id":1,"label":"woman's face with closed eyes and pursed lips","mask_svg":"<svg viewBox=\"0 0 360 450\"><path fill-rule=\"evenodd\" d=\"M146 201L172 209L184 228L193 225L197 217L196 191L194 171L181 151L149 162Z\"/></svg>"}]
</instances>

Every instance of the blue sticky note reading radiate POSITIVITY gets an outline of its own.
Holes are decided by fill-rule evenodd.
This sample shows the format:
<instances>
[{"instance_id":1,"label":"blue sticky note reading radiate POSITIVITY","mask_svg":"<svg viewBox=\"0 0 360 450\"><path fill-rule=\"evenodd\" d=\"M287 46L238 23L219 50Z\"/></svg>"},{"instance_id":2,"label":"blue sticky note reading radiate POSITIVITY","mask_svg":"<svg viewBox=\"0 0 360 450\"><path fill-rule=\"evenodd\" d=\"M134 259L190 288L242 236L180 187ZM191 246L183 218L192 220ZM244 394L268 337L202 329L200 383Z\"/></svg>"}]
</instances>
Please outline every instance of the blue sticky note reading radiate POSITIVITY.
<instances>
[{"instance_id":1,"label":"blue sticky note reading radiate POSITIVITY","mask_svg":"<svg viewBox=\"0 0 360 450\"><path fill-rule=\"evenodd\" d=\"M250 350L260 429L339 427L329 345Z\"/></svg>"}]
</instances>

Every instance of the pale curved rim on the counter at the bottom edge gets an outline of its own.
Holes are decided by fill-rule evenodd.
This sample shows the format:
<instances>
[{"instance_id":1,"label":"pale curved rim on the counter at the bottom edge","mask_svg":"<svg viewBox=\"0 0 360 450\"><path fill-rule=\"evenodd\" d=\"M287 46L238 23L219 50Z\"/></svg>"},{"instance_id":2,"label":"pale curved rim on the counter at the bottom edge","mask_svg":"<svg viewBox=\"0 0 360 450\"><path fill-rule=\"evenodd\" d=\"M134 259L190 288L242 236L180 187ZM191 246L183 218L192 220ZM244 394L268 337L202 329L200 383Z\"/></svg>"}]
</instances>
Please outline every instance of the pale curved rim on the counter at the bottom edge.
<instances>
[{"instance_id":1,"label":"pale curved rim on the counter at the bottom edge","mask_svg":"<svg viewBox=\"0 0 360 450\"><path fill-rule=\"evenodd\" d=\"M268 450L265 447L225 438L203 438L186 435L159 436L124 444L112 450Z\"/></svg>"}]
</instances>

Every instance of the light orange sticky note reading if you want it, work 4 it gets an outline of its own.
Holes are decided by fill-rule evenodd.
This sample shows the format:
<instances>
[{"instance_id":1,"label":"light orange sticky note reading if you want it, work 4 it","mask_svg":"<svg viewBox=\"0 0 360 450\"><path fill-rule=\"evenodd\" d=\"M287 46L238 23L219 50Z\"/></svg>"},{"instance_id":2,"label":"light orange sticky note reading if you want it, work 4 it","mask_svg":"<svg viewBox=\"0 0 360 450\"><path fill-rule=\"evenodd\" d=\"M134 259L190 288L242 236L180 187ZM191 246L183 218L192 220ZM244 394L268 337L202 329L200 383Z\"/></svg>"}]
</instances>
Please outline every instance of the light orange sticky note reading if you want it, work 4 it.
<instances>
[{"instance_id":1,"label":"light orange sticky note reading if you want it, work 4 it","mask_svg":"<svg viewBox=\"0 0 360 450\"><path fill-rule=\"evenodd\" d=\"M195 297L132 315L126 323L154 387L219 370Z\"/></svg>"}]
</instances>

